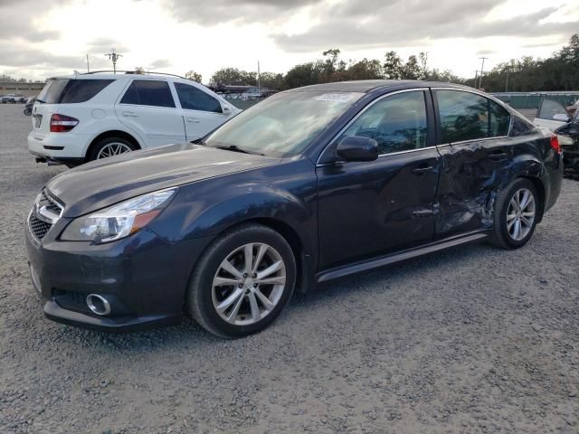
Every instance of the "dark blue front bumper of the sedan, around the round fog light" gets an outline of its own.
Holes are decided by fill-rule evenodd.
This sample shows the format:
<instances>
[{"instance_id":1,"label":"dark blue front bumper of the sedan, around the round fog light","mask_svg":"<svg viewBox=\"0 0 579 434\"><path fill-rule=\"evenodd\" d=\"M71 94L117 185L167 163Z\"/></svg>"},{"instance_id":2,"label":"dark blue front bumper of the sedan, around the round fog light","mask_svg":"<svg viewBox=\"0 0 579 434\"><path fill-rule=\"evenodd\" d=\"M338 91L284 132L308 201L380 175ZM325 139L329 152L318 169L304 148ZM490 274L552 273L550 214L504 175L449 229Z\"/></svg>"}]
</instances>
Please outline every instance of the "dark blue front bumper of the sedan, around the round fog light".
<instances>
[{"instance_id":1,"label":"dark blue front bumper of the sedan, around the round fog light","mask_svg":"<svg viewBox=\"0 0 579 434\"><path fill-rule=\"evenodd\" d=\"M33 287L43 298L44 316L113 333L180 322L189 276L208 240L170 243L143 230L101 245L58 241L68 222L62 218L42 241L26 223ZM109 300L109 316L90 312L84 303L89 294Z\"/></svg>"}]
</instances>

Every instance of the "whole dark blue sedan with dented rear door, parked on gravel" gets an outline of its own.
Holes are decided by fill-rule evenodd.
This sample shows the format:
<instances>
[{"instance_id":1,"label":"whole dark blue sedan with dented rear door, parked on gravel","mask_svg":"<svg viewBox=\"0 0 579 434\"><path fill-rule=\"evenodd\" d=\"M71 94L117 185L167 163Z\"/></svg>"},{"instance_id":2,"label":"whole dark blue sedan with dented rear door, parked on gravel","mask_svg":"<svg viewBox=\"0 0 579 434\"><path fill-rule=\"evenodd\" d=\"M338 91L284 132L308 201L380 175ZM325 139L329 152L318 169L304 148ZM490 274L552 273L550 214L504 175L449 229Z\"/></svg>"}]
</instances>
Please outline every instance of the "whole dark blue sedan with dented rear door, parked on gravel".
<instances>
[{"instance_id":1,"label":"whole dark blue sedan with dented rear door, parked on gravel","mask_svg":"<svg viewBox=\"0 0 579 434\"><path fill-rule=\"evenodd\" d=\"M473 241L524 246L562 174L557 137L478 90L289 90L196 143L54 177L26 222L33 287L67 325L132 331L188 314L249 335L294 290Z\"/></svg>"}]
</instances>

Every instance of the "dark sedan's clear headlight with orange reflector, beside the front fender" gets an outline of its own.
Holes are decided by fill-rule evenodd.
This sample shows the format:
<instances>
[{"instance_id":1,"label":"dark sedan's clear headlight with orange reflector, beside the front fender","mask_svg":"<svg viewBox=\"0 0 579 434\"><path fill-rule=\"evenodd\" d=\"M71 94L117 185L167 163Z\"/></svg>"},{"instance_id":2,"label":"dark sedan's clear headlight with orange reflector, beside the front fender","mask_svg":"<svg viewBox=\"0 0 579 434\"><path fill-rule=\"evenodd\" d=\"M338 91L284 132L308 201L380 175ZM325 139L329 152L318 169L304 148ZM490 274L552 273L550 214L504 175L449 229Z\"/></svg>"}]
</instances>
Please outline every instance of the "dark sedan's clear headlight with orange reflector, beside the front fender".
<instances>
[{"instance_id":1,"label":"dark sedan's clear headlight with orange reflector, beside the front fender","mask_svg":"<svg viewBox=\"0 0 579 434\"><path fill-rule=\"evenodd\" d=\"M108 242L125 238L147 226L176 188L147 193L104 210L74 219L62 232L62 241Z\"/></svg>"}]
</instances>

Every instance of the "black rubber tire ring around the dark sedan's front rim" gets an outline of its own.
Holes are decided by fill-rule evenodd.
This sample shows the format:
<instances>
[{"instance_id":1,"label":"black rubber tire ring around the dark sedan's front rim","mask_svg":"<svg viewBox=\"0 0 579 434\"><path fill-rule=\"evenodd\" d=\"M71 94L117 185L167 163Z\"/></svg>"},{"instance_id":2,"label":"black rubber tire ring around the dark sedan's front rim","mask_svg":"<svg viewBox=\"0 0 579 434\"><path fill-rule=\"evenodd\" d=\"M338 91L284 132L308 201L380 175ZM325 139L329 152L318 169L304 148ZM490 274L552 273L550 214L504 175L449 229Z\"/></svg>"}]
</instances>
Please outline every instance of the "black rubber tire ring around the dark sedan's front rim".
<instances>
[{"instance_id":1,"label":"black rubber tire ring around the dark sedan's front rim","mask_svg":"<svg viewBox=\"0 0 579 434\"><path fill-rule=\"evenodd\" d=\"M286 268L286 288L277 306L261 321L252 325L232 325L223 320L214 309L212 298L213 279L217 268L227 255L242 245L251 242L263 242L278 250ZM203 316L200 318L201 325L209 325L209 331L217 335L228 338L252 335L263 330L280 316L283 308L289 303L295 283L296 263L288 242L276 231L266 227L251 226L225 234L204 253L204 259L200 261L195 269L194 278L190 284L188 307L195 318L195 308L191 306L191 303L195 302L198 307L197 315Z\"/></svg>"}]
</instances>

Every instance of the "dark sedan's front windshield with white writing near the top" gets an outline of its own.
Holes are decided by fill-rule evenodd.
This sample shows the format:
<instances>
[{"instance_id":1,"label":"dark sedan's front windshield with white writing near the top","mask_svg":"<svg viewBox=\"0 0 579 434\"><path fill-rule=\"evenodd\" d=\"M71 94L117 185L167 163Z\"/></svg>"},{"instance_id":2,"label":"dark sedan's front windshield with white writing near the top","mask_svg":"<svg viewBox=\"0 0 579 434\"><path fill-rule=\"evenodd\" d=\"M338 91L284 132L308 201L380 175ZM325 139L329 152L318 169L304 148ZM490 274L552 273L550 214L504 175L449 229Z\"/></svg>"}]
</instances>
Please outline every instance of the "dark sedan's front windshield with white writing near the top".
<instances>
[{"instance_id":1,"label":"dark sedan's front windshield with white writing near the top","mask_svg":"<svg viewBox=\"0 0 579 434\"><path fill-rule=\"evenodd\" d=\"M265 156L295 156L362 93L297 91L264 99L218 128L207 146Z\"/></svg>"}]
</instances>

